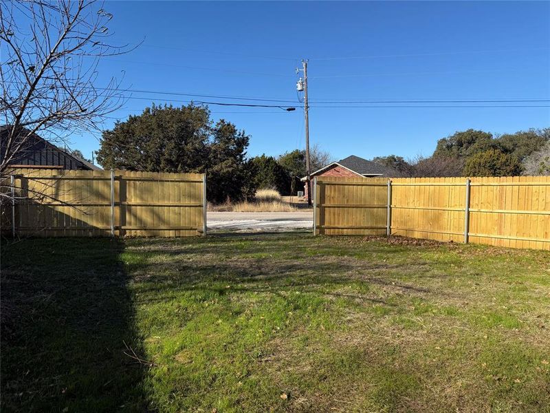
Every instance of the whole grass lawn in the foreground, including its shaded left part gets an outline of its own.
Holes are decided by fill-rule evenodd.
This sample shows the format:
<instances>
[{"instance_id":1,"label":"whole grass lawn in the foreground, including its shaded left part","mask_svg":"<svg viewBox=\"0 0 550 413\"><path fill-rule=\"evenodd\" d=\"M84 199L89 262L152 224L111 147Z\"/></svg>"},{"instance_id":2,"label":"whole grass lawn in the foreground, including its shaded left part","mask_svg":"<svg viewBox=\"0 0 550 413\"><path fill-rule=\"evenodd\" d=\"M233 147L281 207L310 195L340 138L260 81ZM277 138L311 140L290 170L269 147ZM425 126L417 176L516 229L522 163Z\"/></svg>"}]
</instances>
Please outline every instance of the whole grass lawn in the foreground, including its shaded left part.
<instances>
[{"instance_id":1,"label":"whole grass lawn in the foreground, including its shaded left part","mask_svg":"<svg viewBox=\"0 0 550 413\"><path fill-rule=\"evenodd\" d=\"M1 260L2 412L550 412L542 251L288 233Z\"/></svg>"}]
</instances>

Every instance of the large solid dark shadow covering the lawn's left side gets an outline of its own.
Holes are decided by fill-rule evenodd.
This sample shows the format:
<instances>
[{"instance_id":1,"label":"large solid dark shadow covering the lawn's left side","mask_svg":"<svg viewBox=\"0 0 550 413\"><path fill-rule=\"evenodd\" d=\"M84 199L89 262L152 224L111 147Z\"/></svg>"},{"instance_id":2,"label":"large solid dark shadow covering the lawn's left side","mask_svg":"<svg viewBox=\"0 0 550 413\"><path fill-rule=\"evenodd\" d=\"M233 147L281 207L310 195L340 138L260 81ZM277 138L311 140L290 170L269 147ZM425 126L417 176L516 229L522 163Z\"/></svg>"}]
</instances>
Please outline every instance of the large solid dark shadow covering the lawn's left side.
<instances>
[{"instance_id":1,"label":"large solid dark shadow covering the lawn's left side","mask_svg":"<svg viewBox=\"0 0 550 413\"><path fill-rule=\"evenodd\" d=\"M146 411L146 364L110 239L1 248L1 411Z\"/></svg>"}]
</instances>

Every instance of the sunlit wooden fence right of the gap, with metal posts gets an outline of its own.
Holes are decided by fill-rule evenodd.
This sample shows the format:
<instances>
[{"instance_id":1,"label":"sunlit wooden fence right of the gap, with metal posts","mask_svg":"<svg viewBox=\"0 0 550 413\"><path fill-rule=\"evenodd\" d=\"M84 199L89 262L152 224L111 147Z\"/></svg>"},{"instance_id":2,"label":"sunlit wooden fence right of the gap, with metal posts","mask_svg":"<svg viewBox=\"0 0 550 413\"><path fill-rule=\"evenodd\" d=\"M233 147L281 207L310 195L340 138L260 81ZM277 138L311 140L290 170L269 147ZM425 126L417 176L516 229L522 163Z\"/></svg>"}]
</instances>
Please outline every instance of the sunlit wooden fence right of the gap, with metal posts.
<instances>
[{"instance_id":1,"label":"sunlit wooden fence right of the gap, with metal posts","mask_svg":"<svg viewBox=\"0 0 550 413\"><path fill-rule=\"evenodd\" d=\"M550 251L550 177L315 180L314 233Z\"/></svg>"}]
</instances>

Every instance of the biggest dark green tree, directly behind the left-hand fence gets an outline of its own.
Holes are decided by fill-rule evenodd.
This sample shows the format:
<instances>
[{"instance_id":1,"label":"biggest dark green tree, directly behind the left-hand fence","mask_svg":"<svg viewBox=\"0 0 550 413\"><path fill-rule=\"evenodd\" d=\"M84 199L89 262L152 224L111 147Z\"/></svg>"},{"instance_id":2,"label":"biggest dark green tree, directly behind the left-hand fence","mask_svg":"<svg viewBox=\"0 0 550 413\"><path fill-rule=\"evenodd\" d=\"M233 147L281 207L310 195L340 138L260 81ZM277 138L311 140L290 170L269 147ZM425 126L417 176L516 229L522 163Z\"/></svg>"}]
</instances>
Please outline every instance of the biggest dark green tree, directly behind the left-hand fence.
<instances>
[{"instance_id":1,"label":"biggest dark green tree, directly behind the left-hand fence","mask_svg":"<svg viewBox=\"0 0 550 413\"><path fill-rule=\"evenodd\" d=\"M250 137L220 120L208 107L147 107L104 131L98 162L105 168L207 174L207 198L241 200L254 192L252 165L245 160Z\"/></svg>"}]
</instances>

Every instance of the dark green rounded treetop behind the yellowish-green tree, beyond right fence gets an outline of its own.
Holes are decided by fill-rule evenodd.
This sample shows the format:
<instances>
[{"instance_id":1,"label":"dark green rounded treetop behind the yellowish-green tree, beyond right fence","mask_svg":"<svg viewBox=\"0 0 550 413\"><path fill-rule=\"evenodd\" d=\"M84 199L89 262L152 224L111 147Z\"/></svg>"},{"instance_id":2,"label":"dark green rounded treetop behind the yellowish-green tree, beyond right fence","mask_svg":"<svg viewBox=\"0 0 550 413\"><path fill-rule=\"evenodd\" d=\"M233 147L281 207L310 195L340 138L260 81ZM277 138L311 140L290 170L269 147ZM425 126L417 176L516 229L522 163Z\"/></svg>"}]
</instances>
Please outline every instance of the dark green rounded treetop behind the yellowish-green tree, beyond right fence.
<instances>
[{"instance_id":1,"label":"dark green rounded treetop behind the yellowish-green tree, beyond right fence","mask_svg":"<svg viewBox=\"0 0 550 413\"><path fill-rule=\"evenodd\" d=\"M493 149L496 146L492 134L468 129L456 132L447 138L439 139L433 156L467 158L478 152Z\"/></svg>"}]
</instances>

